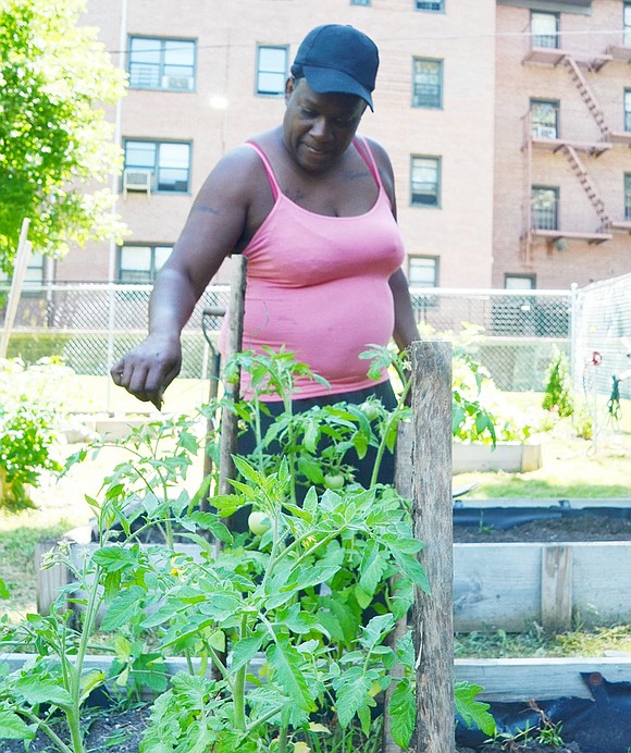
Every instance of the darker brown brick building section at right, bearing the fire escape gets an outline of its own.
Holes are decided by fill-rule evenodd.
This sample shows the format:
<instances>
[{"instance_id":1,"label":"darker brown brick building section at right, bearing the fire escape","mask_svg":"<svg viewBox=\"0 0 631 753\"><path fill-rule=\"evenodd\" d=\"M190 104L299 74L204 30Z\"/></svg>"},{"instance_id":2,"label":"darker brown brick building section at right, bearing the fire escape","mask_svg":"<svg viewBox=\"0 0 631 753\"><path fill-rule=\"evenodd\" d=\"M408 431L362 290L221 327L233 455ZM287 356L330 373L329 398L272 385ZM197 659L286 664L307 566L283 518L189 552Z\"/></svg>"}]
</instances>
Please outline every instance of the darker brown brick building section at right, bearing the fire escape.
<instances>
[{"instance_id":1,"label":"darker brown brick building section at right, bearing the fire escape","mask_svg":"<svg viewBox=\"0 0 631 753\"><path fill-rule=\"evenodd\" d=\"M631 271L631 3L497 4L494 287Z\"/></svg>"}]
</instances>

